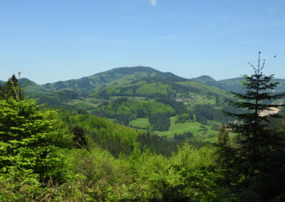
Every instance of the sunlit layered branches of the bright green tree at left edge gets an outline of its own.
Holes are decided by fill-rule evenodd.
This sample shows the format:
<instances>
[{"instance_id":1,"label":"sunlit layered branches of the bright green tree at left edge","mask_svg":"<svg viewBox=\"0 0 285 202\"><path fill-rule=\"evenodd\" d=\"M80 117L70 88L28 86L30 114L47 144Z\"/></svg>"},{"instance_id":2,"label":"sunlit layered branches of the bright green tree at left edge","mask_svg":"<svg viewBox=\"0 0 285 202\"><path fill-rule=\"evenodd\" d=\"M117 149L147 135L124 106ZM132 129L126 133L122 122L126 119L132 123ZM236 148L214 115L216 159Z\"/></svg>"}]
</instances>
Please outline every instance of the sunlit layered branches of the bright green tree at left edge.
<instances>
[{"instance_id":1,"label":"sunlit layered branches of the bright green tree at left edge","mask_svg":"<svg viewBox=\"0 0 285 202\"><path fill-rule=\"evenodd\" d=\"M36 100L0 100L0 172L6 174L16 167L31 170L41 181L49 176L61 179L62 163L56 145L68 131L61 132L64 127L56 129L56 122L56 112L42 110Z\"/></svg>"}]
</instances>

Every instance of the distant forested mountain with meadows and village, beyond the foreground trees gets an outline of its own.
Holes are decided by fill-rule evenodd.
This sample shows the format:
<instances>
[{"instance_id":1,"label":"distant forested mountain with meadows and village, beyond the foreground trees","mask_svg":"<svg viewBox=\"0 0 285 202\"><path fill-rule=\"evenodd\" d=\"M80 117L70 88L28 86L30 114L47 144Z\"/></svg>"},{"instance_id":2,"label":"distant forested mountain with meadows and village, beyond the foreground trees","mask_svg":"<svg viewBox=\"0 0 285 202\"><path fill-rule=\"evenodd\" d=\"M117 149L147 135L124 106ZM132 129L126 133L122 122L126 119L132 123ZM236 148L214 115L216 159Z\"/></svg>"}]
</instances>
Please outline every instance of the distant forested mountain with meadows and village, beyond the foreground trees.
<instances>
[{"instance_id":1,"label":"distant forested mountain with meadows and village, beyond the foreground trees","mask_svg":"<svg viewBox=\"0 0 285 202\"><path fill-rule=\"evenodd\" d=\"M222 122L233 121L221 110L237 112L226 100L234 99L228 91L240 89L239 80L186 79L138 66L45 85L28 82L25 95L49 107L106 117L140 132L169 138L191 132L207 139L217 136ZM279 91L285 90L285 80L278 81Z\"/></svg>"}]
</instances>

